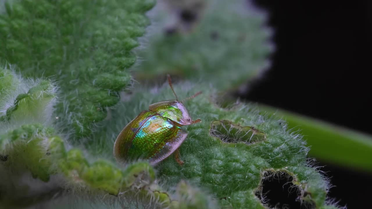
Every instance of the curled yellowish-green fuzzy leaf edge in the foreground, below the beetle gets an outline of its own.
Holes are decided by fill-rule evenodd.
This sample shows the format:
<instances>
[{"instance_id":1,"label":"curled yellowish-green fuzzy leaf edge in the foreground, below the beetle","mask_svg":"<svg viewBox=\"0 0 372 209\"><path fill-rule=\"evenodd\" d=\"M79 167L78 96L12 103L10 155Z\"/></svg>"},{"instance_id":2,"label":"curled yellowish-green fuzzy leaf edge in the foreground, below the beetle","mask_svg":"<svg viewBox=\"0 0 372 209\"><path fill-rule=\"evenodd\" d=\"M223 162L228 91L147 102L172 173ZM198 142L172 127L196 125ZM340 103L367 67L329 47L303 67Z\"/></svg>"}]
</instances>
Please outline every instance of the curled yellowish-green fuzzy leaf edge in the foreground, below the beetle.
<instances>
[{"instance_id":1,"label":"curled yellowish-green fuzzy leaf edge in the foreground, below the beetle","mask_svg":"<svg viewBox=\"0 0 372 209\"><path fill-rule=\"evenodd\" d=\"M196 204L210 204L207 196L203 196L202 192L193 192L192 187L185 183L182 189L177 190L182 193L182 198L171 199L171 194L154 182L154 170L146 162L132 163L125 168L102 159L89 163L80 149L74 148L67 152L64 142L58 136L51 136L53 133L51 128L33 124L0 135L1 174L4 171L8 175L18 174L12 173L15 170L20 173L31 171L34 178L45 182L49 181L52 174L63 174L63 181L68 180L70 188L84 191L86 195L113 194L117 196L116 201L124 199L127 202L132 202L134 197L140 195L138 204L149 202L161 208L176 209L182 205L182 208L191 209ZM13 178L17 178L17 175ZM1 182L1 185L6 183ZM21 195L17 196L7 190L0 189L0 193L0 206L14 206L17 199L22 199ZM185 196L195 198L190 200ZM205 199L201 199L203 197Z\"/></svg>"}]
</instances>

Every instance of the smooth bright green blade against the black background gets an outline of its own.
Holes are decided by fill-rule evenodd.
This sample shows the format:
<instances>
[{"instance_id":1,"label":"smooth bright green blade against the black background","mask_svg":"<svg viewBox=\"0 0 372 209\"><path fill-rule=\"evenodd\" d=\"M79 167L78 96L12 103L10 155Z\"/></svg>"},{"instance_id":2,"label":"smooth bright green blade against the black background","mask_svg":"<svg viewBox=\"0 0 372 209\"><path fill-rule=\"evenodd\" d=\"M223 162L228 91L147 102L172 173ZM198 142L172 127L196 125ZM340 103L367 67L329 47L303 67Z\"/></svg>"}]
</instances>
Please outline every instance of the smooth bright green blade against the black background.
<instances>
[{"instance_id":1,"label":"smooth bright green blade against the black background","mask_svg":"<svg viewBox=\"0 0 372 209\"><path fill-rule=\"evenodd\" d=\"M288 128L301 130L299 134L304 135L304 140L311 146L311 157L372 171L372 136L275 107L259 105L259 110L282 118Z\"/></svg>"}]
</instances>

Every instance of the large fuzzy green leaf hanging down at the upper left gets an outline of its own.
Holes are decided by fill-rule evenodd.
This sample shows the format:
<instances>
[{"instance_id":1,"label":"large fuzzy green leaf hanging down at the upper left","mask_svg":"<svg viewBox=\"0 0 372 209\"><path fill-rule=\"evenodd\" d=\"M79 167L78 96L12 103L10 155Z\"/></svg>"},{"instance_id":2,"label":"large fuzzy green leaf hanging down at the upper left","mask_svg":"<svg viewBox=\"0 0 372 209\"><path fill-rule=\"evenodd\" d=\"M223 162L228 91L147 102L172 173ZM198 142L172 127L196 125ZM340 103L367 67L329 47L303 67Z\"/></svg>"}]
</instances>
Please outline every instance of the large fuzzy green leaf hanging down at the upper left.
<instances>
[{"instance_id":1,"label":"large fuzzy green leaf hanging down at the upper left","mask_svg":"<svg viewBox=\"0 0 372 209\"><path fill-rule=\"evenodd\" d=\"M132 49L148 25L152 0L22 0L0 14L0 61L23 76L58 80L58 115L86 136L131 85Z\"/></svg>"}]
</instances>

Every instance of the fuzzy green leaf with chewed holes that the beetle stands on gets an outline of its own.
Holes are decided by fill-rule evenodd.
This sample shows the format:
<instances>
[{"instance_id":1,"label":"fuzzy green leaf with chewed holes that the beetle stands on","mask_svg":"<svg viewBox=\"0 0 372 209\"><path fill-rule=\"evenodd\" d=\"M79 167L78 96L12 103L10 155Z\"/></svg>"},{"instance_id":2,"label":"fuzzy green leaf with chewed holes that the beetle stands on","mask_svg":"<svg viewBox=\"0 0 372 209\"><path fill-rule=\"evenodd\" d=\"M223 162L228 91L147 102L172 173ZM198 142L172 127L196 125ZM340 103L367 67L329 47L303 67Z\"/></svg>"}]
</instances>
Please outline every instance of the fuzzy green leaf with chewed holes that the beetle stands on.
<instances>
[{"instance_id":1,"label":"fuzzy green leaf with chewed holes that the beetle stands on","mask_svg":"<svg viewBox=\"0 0 372 209\"><path fill-rule=\"evenodd\" d=\"M193 185L209 190L224 208L263 208L264 205L255 195L260 192L260 182L266 172L280 172L295 179L295 186L302 192L299 199L316 208L326 204L328 181L309 166L306 143L300 135L288 132L285 123L266 118L243 103L230 109L221 108L213 99L216 97L215 91L208 86L191 87L186 83L174 87L180 99L203 89L203 96L185 101L192 118L200 118L202 122L183 126L188 132L186 141L180 147L180 156L185 164L180 166L173 157L165 159L156 167L158 179L170 187L182 179L188 180ZM168 86L138 91L141 94L134 94L130 101L112 110L103 131L94 136L96 144L90 145L90 152L103 153L112 148L116 136L110 133L119 133L151 103L174 97ZM211 132L218 131L213 130L214 122L224 120L235 124L230 126L230 123L222 123L228 132L225 133L226 137L231 138L230 142L211 135ZM251 128L234 130L235 127L248 126ZM254 130L259 136L264 134L264 138L253 143L247 139L239 141L240 134L237 133L242 130L248 135ZM222 131L219 133L224 134ZM112 140L108 140L110 138Z\"/></svg>"}]
</instances>

